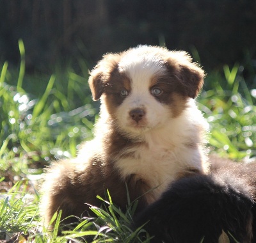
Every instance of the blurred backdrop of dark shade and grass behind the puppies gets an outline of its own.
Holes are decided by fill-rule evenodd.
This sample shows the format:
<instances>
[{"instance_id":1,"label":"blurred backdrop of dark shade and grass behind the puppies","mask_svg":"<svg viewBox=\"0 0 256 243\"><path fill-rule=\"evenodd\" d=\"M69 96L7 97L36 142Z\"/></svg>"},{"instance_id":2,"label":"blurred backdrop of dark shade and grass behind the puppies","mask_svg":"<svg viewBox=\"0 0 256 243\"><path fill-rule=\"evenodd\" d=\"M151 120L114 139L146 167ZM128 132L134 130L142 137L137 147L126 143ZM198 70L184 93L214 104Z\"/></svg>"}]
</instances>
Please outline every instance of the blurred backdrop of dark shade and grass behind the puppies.
<instances>
[{"instance_id":1,"label":"blurred backdrop of dark shade and grass behind the puppies","mask_svg":"<svg viewBox=\"0 0 256 243\"><path fill-rule=\"evenodd\" d=\"M209 152L256 157L255 0L1 0L0 177L76 156L99 112L89 70L140 44L188 51L204 67Z\"/></svg>"}]
</instances>

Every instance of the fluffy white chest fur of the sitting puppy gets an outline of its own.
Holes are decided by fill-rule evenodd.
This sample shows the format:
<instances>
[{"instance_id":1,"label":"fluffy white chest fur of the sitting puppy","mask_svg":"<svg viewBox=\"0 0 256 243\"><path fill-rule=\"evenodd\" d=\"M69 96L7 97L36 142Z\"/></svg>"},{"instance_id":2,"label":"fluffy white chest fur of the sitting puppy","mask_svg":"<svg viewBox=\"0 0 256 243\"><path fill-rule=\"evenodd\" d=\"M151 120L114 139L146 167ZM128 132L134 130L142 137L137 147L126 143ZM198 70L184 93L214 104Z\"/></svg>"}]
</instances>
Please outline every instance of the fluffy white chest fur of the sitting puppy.
<instances>
[{"instance_id":1,"label":"fluffy white chest fur of the sitting puppy","mask_svg":"<svg viewBox=\"0 0 256 243\"><path fill-rule=\"evenodd\" d=\"M207 158L202 137L196 129L198 126L191 120L187 121L184 117L176 118L164 129L148 132L144 143L123 151L132 153L132 157L116 159L116 168L122 176L135 174L151 189L156 187L148 203L157 200L177 175L188 169L207 171Z\"/></svg>"}]
</instances>

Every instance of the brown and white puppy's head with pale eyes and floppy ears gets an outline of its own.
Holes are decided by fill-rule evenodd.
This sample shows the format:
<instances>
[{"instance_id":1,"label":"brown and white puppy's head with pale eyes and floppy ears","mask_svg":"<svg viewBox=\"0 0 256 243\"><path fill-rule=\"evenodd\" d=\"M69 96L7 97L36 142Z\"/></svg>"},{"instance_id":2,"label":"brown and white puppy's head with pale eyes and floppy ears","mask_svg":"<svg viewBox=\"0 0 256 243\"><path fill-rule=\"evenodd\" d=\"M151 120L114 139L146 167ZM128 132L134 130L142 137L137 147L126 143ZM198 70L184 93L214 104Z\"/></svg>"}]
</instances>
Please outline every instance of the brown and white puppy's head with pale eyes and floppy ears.
<instances>
[{"instance_id":1,"label":"brown and white puppy's head with pale eyes and floppy ears","mask_svg":"<svg viewBox=\"0 0 256 243\"><path fill-rule=\"evenodd\" d=\"M106 54L89 79L93 100L129 134L161 127L186 109L204 83L204 71L186 52L138 46Z\"/></svg>"}]
</instances>

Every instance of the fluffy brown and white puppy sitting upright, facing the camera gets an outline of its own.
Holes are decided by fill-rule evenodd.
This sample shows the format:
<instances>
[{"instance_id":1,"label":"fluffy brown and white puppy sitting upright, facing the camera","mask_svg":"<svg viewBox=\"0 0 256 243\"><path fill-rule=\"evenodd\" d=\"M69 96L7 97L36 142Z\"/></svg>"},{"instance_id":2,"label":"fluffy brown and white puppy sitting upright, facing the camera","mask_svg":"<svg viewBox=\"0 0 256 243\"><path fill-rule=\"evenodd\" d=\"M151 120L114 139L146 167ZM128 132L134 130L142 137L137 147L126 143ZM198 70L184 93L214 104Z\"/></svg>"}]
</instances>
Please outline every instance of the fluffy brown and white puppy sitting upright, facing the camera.
<instances>
[{"instance_id":1,"label":"fluffy brown and white puppy sitting upright, facing the camera","mask_svg":"<svg viewBox=\"0 0 256 243\"><path fill-rule=\"evenodd\" d=\"M95 138L75 159L54 163L42 186L42 216L57 210L81 216L109 190L125 209L127 190L138 210L183 176L207 173L207 123L195 104L204 71L186 52L138 46L106 54L92 70L93 100L100 98ZM145 193L147 192L147 193ZM142 196L143 195L143 196Z\"/></svg>"}]
</instances>

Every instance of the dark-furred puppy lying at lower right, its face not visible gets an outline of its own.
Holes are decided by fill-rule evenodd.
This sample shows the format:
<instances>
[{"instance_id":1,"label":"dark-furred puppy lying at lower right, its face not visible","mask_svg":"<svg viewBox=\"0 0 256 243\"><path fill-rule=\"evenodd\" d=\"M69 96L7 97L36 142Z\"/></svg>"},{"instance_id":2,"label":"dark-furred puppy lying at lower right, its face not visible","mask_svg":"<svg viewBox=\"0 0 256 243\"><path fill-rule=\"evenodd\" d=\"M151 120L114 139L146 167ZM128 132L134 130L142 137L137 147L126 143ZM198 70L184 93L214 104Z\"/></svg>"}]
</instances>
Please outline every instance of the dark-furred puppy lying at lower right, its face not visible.
<instances>
[{"instance_id":1,"label":"dark-furred puppy lying at lower right, its face not visible","mask_svg":"<svg viewBox=\"0 0 256 243\"><path fill-rule=\"evenodd\" d=\"M255 165L181 178L141 212L134 224L147 223L143 228L154 235L150 242L199 243L204 239L217 243L223 231L230 242L256 242L252 238L255 181L251 174L255 178Z\"/></svg>"}]
</instances>

